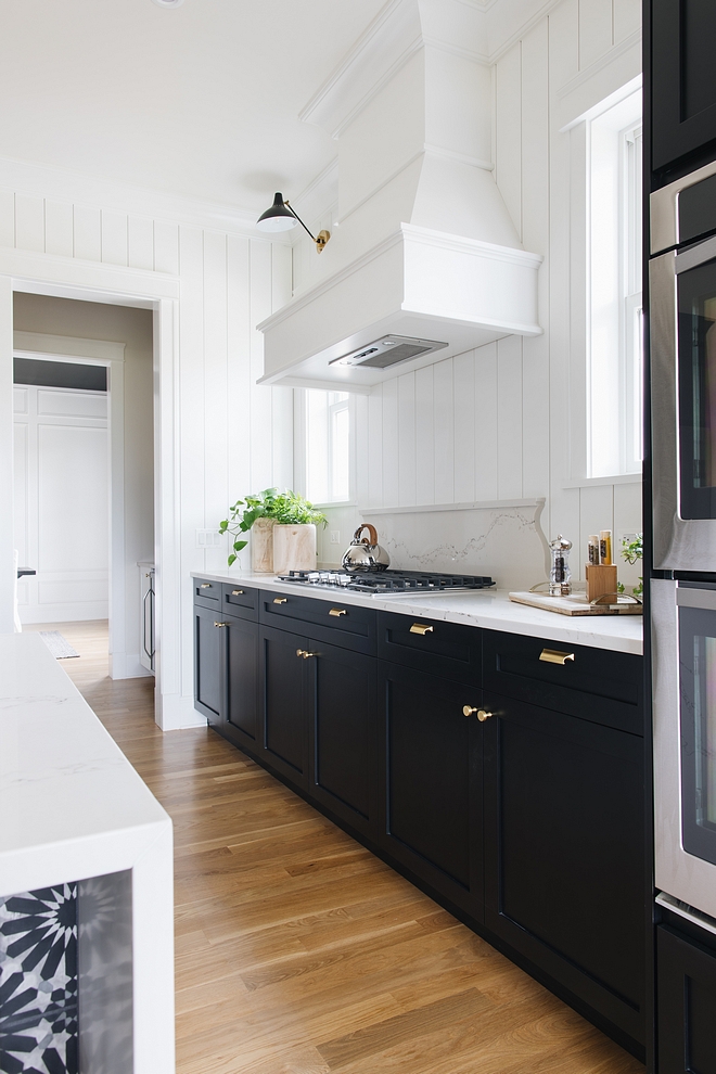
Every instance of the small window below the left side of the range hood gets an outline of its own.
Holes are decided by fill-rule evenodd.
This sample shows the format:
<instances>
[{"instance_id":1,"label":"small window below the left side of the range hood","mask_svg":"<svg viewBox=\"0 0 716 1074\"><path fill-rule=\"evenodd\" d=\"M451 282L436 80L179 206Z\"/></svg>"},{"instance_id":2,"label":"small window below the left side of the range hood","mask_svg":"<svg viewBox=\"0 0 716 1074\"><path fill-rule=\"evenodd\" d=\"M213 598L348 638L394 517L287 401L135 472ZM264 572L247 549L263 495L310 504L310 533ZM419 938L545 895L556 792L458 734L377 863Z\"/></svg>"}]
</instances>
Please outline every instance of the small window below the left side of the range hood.
<instances>
[{"instance_id":1,"label":"small window below the left side of the range hood","mask_svg":"<svg viewBox=\"0 0 716 1074\"><path fill-rule=\"evenodd\" d=\"M306 496L312 503L350 499L351 400L347 392L303 393Z\"/></svg>"}]
</instances>

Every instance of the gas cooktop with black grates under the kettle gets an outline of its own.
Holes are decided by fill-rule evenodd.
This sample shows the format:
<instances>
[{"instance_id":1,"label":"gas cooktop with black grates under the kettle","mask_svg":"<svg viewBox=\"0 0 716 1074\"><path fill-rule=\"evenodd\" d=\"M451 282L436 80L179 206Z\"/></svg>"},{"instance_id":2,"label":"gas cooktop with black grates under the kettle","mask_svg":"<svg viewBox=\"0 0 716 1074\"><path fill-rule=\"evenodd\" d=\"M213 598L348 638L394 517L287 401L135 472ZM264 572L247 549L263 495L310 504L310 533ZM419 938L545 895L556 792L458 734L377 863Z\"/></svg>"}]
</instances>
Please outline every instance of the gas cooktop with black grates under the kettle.
<instances>
[{"instance_id":1,"label":"gas cooktop with black grates under the kettle","mask_svg":"<svg viewBox=\"0 0 716 1074\"><path fill-rule=\"evenodd\" d=\"M464 592L488 589L491 578L473 574L432 574L422 571L375 571L349 574L347 571L290 571L280 581L321 589L345 589L369 597L409 597L411 593Z\"/></svg>"}]
</instances>

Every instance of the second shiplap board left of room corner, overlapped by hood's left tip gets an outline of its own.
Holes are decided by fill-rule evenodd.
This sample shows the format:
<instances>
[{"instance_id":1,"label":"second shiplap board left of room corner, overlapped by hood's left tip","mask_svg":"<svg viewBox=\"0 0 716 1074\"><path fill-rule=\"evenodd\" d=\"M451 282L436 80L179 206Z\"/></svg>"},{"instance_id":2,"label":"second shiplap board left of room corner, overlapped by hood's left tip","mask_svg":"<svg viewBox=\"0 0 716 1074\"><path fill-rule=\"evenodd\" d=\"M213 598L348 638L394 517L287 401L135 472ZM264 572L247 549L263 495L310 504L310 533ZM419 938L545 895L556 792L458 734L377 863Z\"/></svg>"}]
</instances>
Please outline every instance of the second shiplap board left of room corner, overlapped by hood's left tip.
<instances>
[{"instance_id":1,"label":"second shiplap board left of room corner, overlapped by hood's left tip","mask_svg":"<svg viewBox=\"0 0 716 1074\"><path fill-rule=\"evenodd\" d=\"M273 477L271 388L256 381L264 372L264 336L256 331L271 312L271 244L251 240L251 491L270 488Z\"/></svg>"}]
</instances>

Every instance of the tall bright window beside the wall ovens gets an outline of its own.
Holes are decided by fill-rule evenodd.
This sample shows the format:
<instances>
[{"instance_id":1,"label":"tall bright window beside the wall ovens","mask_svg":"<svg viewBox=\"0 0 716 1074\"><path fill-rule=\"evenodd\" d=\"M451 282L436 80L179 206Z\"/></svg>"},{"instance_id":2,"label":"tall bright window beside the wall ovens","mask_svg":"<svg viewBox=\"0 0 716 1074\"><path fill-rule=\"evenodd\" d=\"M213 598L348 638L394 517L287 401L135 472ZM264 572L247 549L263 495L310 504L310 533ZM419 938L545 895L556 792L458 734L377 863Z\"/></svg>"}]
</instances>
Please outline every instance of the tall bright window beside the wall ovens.
<instances>
[{"instance_id":1,"label":"tall bright window beside the wall ovens","mask_svg":"<svg viewBox=\"0 0 716 1074\"><path fill-rule=\"evenodd\" d=\"M641 93L589 123L588 475L641 470Z\"/></svg>"}]
</instances>

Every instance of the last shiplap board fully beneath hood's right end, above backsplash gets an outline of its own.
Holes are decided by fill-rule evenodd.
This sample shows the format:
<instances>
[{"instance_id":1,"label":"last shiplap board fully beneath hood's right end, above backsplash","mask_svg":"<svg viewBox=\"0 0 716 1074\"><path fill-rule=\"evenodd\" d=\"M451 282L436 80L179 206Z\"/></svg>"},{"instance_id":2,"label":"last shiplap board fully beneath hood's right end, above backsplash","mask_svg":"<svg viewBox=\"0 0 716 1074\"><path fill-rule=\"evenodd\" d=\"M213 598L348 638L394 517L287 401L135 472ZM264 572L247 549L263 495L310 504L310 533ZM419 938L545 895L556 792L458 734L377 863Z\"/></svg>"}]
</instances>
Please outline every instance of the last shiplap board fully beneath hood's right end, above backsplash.
<instances>
[{"instance_id":1,"label":"last shiplap board fully beneath hood's right end, above backsplash","mask_svg":"<svg viewBox=\"0 0 716 1074\"><path fill-rule=\"evenodd\" d=\"M522 337L497 343L497 493L522 497Z\"/></svg>"}]
</instances>

